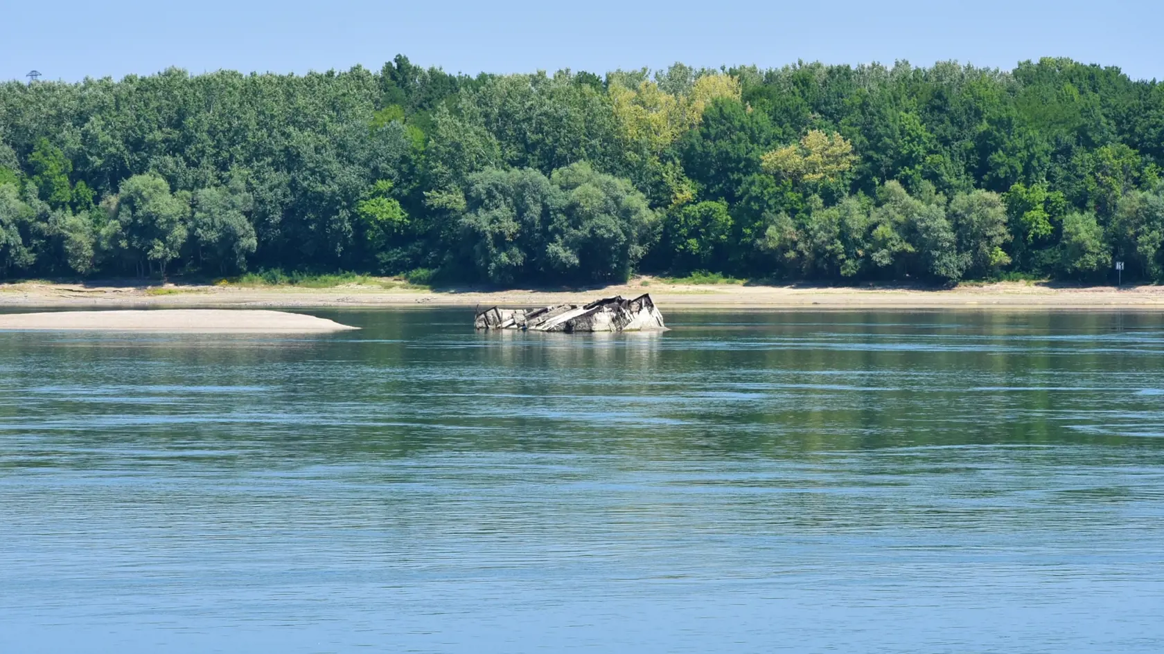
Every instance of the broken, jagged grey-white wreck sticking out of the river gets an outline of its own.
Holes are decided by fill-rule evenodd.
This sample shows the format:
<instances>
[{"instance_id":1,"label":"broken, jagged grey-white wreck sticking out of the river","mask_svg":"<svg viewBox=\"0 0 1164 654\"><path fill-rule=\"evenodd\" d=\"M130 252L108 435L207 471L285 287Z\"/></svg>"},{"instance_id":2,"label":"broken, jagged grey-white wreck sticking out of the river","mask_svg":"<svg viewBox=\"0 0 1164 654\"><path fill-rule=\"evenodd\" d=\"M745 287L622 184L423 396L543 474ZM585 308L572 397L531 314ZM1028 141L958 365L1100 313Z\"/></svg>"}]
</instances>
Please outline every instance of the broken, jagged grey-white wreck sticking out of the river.
<instances>
[{"instance_id":1,"label":"broken, jagged grey-white wreck sticking out of the river","mask_svg":"<svg viewBox=\"0 0 1164 654\"><path fill-rule=\"evenodd\" d=\"M520 329L523 332L647 332L663 330L662 314L644 293L633 300L622 296L585 305L560 304L542 308L490 307L477 312L477 329Z\"/></svg>"}]
</instances>

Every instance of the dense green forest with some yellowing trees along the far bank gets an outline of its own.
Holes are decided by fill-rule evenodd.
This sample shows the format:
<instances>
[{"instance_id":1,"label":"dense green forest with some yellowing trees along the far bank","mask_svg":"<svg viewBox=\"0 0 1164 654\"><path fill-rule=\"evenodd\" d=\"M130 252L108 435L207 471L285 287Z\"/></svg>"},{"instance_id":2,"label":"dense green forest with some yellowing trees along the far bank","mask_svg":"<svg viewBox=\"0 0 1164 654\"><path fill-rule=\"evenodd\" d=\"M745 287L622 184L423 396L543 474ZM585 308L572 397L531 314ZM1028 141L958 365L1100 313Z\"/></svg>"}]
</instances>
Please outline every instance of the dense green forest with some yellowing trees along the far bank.
<instances>
[{"instance_id":1,"label":"dense green forest with some yellowing trees along the far bank","mask_svg":"<svg viewBox=\"0 0 1164 654\"><path fill-rule=\"evenodd\" d=\"M1164 85L797 64L0 84L0 276L1164 280Z\"/></svg>"}]
</instances>

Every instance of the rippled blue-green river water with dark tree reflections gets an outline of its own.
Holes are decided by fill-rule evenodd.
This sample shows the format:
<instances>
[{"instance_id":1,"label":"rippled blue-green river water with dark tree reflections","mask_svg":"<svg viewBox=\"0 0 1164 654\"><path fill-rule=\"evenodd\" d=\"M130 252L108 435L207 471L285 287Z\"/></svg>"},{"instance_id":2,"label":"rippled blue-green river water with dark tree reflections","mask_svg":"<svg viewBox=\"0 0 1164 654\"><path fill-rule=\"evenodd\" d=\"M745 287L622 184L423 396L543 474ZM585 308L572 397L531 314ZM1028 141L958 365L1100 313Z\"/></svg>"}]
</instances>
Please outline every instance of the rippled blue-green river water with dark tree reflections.
<instances>
[{"instance_id":1,"label":"rippled blue-green river water with dark tree reflections","mask_svg":"<svg viewBox=\"0 0 1164 654\"><path fill-rule=\"evenodd\" d=\"M1164 651L1164 315L320 314L0 333L0 651Z\"/></svg>"}]
</instances>

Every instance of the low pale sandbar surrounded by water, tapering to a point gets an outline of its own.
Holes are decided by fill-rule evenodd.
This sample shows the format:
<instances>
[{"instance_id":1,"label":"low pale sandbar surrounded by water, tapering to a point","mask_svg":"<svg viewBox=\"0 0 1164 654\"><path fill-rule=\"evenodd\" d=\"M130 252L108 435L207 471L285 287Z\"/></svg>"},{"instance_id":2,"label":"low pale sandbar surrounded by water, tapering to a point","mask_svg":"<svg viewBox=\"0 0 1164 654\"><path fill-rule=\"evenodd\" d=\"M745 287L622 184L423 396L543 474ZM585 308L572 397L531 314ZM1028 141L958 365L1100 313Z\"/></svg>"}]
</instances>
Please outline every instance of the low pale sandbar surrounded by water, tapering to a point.
<instances>
[{"instance_id":1,"label":"low pale sandbar surrounded by water, tapering to a point","mask_svg":"<svg viewBox=\"0 0 1164 654\"><path fill-rule=\"evenodd\" d=\"M325 318L263 310L162 308L154 311L59 311L0 315L0 329L90 332L190 332L293 334L359 329Z\"/></svg>"}]
</instances>

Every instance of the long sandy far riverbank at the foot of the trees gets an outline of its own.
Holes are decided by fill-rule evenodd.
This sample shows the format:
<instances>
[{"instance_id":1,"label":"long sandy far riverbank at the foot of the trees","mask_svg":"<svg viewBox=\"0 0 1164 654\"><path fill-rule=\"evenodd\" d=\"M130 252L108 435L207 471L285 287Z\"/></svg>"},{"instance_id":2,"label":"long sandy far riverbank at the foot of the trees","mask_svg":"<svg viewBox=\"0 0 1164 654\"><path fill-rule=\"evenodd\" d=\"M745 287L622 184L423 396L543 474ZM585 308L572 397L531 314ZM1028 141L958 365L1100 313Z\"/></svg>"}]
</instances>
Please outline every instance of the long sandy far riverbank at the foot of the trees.
<instances>
[{"instance_id":1,"label":"long sandy far riverbank at the foot of the trees","mask_svg":"<svg viewBox=\"0 0 1164 654\"><path fill-rule=\"evenodd\" d=\"M689 284L638 278L629 284L582 290L432 290L391 283L335 287L293 285L0 284L0 308L21 307L377 307L538 306L584 303L599 297L651 293L666 310L683 308L1006 308L1164 311L1164 286L1070 286L1025 282L963 284L954 289L909 286Z\"/></svg>"}]
</instances>

